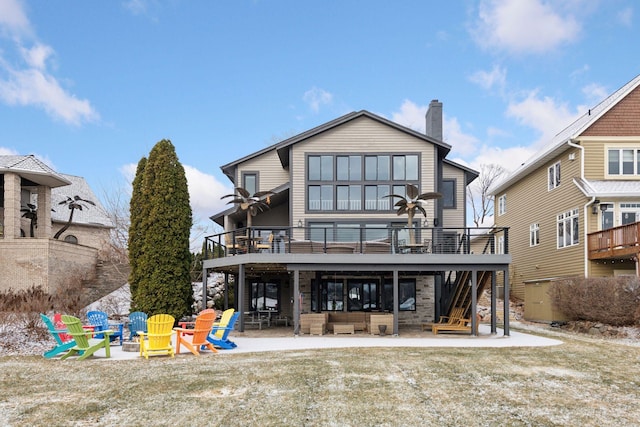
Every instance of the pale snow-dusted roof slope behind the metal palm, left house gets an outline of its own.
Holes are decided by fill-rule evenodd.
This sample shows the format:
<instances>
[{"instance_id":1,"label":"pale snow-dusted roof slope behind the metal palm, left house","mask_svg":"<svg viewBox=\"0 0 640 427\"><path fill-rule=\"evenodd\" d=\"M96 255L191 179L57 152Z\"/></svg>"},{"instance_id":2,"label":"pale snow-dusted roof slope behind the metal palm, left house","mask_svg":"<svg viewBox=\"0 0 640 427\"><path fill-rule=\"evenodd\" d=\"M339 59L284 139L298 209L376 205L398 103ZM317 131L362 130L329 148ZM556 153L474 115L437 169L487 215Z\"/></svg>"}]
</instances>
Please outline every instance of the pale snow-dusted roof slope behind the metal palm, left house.
<instances>
[{"instance_id":1,"label":"pale snow-dusted roof slope behind the metal palm, left house","mask_svg":"<svg viewBox=\"0 0 640 427\"><path fill-rule=\"evenodd\" d=\"M80 176L60 174L69 181L69 185L51 189L51 207L55 211L51 212L51 220L55 222L67 222L69 220L69 209L67 205L61 205L60 202L80 196L85 200L95 203L95 206L88 205L82 210L76 209L73 213L73 224L92 225L113 228L113 222L96 195L89 187L87 181Z\"/></svg>"}]
</instances>

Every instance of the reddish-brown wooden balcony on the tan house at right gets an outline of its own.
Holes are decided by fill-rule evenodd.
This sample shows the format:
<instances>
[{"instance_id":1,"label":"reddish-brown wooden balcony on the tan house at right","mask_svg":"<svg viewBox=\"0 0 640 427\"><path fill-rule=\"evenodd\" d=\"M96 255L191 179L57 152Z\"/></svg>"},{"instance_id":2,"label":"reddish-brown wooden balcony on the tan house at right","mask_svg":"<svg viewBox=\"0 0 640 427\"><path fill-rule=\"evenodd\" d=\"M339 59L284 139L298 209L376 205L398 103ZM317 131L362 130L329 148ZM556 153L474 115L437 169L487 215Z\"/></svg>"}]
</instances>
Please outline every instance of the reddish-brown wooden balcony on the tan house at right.
<instances>
[{"instance_id":1,"label":"reddish-brown wooden balcony on the tan house at right","mask_svg":"<svg viewBox=\"0 0 640 427\"><path fill-rule=\"evenodd\" d=\"M640 252L639 235L640 222L589 233L587 235L589 259L616 259L635 256Z\"/></svg>"}]
</instances>

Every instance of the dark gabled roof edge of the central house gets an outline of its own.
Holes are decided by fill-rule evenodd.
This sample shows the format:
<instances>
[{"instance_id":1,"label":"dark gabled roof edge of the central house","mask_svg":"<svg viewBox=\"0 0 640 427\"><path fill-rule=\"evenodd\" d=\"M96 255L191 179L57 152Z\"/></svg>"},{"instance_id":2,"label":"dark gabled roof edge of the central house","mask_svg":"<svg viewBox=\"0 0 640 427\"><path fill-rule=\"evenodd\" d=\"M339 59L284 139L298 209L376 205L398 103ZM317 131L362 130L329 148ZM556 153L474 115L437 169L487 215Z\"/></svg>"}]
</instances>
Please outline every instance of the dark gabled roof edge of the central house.
<instances>
[{"instance_id":1,"label":"dark gabled roof edge of the central house","mask_svg":"<svg viewBox=\"0 0 640 427\"><path fill-rule=\"evenodd\" d=\"M282 167L285 168L287 166L289 166L289 151L291 149L291 146L294 144L297 144L299 142L302 142L306 139L312 138L316 135L319 135L323 132L326 132L330 129L336 128L340 125L343 125L345 123L348 123L352 120L358 119L360 117L368 117L369 119L375 120L379 123L382 123L384 125L393 127L401 132L407 133L411 136L414 136L416 138L422 139L425 142L429 142L431 144L436 145L440 150L441 150L441 155L442 157L446 156L447 153L449 153L449 151L451 150L451 146L443 141L440 141L438 139L432 138L430 136L427 136L425 134L422 134L420 132L417 132L413 129L407 128L405 126L399 125L395 122L392 122L391 120L385 119L383 117L380 117L376 114L370 113L369 111L366 110L361 110L361 111L357 111L357 112L351 112L349 114L345 114L344 116L338 117L337 119L334 119L330 122L324 123L320 126L317 126L313 129L310 129L306 132L302 132L301 134L298 134L296 136L293 136L291 138L285 139L284 141L280 141L276 144L273 144L269 147L266 147L260 151L256 151L255 153L249 154L248 156L245 156L241 159L238 159L236 161L233 161L231 163L227 163L226 165L221 166L220 168L222 169L222 172L227 175L229 177L229 179L233 182L233 176L234 176L234 170L235 168L238 166L238 164L245 162L249 159L252 159L254 157L258 157L266 152L272 151L272 150L276 150L278 153L278 157L280 158L280 163L282 164ZM459 166L459 165L457 165Z\"/></svg>"}]
</instances>

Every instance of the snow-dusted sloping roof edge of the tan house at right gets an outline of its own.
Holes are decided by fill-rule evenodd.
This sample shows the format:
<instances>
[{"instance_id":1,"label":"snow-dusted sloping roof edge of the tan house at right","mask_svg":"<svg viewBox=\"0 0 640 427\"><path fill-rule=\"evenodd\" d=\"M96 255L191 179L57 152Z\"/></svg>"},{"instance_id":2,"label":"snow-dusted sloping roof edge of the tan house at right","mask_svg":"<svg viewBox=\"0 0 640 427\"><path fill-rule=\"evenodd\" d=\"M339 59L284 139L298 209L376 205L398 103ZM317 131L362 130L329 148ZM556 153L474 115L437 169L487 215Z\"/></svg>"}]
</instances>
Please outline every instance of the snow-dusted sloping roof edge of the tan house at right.
<instances>
[{"instance_id":1,"label":"snow-dusted sloping roof edge of the tan house at right","mask_svg":"<svg viewBox=\"0 0 640 427\"><path fill-rule=\"evenodd\" d=\"M603 115L622 101L638 86L640 86L640 75L637 75L633 80L609 95L604 101L600 102L594 108L587 110L587 112L580 116L576 121L560 131L560 133L551 140L549 145L523 163L520 168L512 172L503 181L499 182L493 188L490 188L489 192L495 195L496 193L504 191L507 187L521 180L544 163L569 149L569 142L579 137L589 128L589 126L597 122Z\"/></svg>"}]
</instances>

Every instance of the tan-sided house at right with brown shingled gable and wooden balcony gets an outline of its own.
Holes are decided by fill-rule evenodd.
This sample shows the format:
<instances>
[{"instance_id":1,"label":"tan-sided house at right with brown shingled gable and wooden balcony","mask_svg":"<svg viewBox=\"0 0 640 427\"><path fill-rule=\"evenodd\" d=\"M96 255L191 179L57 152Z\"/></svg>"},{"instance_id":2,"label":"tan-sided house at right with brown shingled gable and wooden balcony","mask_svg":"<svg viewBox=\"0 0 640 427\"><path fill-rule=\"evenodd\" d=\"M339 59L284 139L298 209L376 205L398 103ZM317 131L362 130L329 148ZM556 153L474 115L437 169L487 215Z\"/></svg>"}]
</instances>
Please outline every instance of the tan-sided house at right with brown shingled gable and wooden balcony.
<instances>
[{"instance_id":1,"label":"tan-sided house at right with brown shingled gable and wooden balcony","mask_svg":"<svg viewBox=\"0 0 640 427\"><path fill-rule=\"evenodd\" d=\"M639 86L640 76L490 189L527 319L563 319L547 294L553 281L638 274Z\"/></svg>"}]
</instances>

